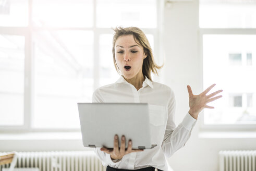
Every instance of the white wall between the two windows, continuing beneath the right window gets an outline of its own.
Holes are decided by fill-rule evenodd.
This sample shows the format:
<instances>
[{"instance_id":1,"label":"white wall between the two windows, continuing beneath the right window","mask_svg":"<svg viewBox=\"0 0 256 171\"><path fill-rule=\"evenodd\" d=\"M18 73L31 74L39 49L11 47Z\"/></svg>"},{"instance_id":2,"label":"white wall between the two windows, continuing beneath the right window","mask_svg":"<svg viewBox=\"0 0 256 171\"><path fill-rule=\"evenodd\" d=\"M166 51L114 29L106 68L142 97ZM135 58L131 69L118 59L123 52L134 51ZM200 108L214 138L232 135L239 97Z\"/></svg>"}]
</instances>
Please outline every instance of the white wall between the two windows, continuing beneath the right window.
<instances>
[{"instance_id":1,"label":"white wall between the two windows, continuing beneath the right window","mask_svg":"<svg viewBox=\"0 0 256 171\"><path fill-rule=\"evenodd\" d=\"M191 86L194 94L203 91L198 43L198 1L173 3L171 7L165 7L164 17L163 80L175 92L175 121L178 125L189 110L187 85ZM256 149L256 138L199 138L200 119L184 148L168 158L175 171L217 171L218 151Z\"/></svg>"}]
</instances>

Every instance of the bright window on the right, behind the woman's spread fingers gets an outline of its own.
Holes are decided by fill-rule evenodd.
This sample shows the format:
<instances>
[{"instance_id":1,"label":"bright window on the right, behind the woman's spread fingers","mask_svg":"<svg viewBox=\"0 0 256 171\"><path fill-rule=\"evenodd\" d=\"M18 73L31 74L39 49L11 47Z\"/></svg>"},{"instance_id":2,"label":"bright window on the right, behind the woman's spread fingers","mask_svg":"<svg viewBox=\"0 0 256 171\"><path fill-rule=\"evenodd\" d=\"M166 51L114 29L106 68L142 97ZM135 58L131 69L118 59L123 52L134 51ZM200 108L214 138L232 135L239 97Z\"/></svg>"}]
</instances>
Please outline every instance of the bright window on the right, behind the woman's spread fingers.
<instances>
[{"instance_id":1,"label":"bright window on the right, behind the woman's spread fingers","mask_svg":"<svg viewBox=\"0 0 256 171\"><path fill-rule=\"evenodd\" d=\"M203 87L224 90L203 126L255 128L256 1L200 0L199 9Z\"/></svg>"}]
</instances>

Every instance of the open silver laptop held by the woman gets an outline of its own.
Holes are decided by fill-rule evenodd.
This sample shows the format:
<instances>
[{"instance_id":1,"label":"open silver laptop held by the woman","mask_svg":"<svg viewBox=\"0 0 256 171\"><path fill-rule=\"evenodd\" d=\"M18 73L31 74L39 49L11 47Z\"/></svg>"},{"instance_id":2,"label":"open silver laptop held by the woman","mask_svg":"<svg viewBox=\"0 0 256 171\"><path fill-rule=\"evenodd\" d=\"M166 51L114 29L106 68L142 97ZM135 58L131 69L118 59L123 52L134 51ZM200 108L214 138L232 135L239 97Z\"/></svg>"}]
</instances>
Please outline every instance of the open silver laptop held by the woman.
<instances>
[{"instance_id":1,"label":"open silver laptop held by the woman","mask_svg":"<svg viewBox=\"0 0 256 171\"><path fill-rule=\"evenodd\" d=\"M151 149L147 103L78 103L84 146L113 148L114 136L129 139L132 149Z\"/></svg>"}]
</instances>

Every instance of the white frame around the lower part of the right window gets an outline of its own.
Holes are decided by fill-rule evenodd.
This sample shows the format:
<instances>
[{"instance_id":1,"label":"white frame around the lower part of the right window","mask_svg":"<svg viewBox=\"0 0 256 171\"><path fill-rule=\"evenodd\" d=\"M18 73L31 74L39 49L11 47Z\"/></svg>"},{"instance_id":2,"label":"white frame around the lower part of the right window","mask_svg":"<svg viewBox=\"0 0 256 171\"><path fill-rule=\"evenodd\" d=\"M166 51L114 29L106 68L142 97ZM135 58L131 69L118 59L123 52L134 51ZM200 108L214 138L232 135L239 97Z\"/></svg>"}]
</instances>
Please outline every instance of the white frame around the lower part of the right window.
<instances>
[{"instance_id":1,"label":"white frame around the lower part of the right window","mask_svg":"<svg viewBox=\"0 0 256 171\"><path fill-rule=\"evenodd\" d=\"M256 35L255 29L212 29L212 28L199 28L199 56L200 56L200 70L201 70L201 85L203 88L203 35L214 34L234 34L234 35ZM256 124L204 124L204 111L201 112L200 129L201 131L254 131Z\"/></svg>"}]
</instances>

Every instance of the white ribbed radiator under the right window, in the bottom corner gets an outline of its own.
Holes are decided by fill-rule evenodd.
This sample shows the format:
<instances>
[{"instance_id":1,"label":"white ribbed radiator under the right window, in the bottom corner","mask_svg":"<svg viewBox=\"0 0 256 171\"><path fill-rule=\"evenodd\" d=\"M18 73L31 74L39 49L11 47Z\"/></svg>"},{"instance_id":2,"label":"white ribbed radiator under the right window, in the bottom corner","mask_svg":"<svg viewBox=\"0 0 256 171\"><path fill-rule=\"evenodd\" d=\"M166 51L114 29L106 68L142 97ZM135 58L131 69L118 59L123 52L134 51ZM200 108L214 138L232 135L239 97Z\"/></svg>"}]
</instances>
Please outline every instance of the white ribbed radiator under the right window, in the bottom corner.
<instances>
[{"instance_id":1,"label":"white ribbed radiator under the right window, in the bottom corner","mask_svg":"<svg viewBox=\"0 0 256 171\"><path fill-rule=\"evenodd\" d=\"M256 151L220 151L220 171L256 171Z\"/></svg>"}]
</instances>

